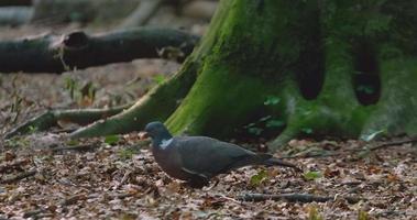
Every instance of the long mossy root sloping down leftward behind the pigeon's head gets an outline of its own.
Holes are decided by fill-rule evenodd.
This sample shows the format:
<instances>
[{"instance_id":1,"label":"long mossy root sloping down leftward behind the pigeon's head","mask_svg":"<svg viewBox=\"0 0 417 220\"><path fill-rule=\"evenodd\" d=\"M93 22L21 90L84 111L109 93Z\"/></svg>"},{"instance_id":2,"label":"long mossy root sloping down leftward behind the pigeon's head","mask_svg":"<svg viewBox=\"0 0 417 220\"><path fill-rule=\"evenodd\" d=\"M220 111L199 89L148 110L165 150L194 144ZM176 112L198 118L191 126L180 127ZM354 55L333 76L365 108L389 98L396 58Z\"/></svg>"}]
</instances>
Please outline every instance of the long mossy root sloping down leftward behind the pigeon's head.
<instances>
[{"instance_id":1,"label":"long mossy root sloping down leftward behind the pigeon's head","mask_svg":"<svg viewBox=\"0 0 417 220\"><path fill-rule=\"evenodd\" d=\"M173 78L152 89L131 108L106 120L99 120L70 134L70 138L90 138L128 133L143 129L150 121L165 121L182 102L196 80L198 65L190 58Z\"/></svg>"}]
</instances>

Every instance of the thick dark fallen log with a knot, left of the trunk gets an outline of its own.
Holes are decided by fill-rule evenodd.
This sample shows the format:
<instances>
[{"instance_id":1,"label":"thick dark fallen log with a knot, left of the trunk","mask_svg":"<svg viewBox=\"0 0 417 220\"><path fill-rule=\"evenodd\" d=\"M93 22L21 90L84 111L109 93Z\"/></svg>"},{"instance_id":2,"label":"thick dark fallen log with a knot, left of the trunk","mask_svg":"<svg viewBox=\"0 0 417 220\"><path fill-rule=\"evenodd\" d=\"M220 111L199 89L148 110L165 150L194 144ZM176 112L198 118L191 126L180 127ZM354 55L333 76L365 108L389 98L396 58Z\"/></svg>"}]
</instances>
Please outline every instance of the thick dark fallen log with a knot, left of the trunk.
<instances>
[{"instance_id":1,"label":"thick dark fallen log with a knot, left of the trunk","mask_svg":"<svg viewBox=\"0 0 417 220\"><path fill-rule=\"evenodd\" d=\"M76 31L2 41L0 72L61 74L138 58L161 58L165 48L178 54L177 61L184 61L198 40L177 30L141 28L95 35ZM172 58L173 53L162 58Z\"/></svg>"}]
</instances>

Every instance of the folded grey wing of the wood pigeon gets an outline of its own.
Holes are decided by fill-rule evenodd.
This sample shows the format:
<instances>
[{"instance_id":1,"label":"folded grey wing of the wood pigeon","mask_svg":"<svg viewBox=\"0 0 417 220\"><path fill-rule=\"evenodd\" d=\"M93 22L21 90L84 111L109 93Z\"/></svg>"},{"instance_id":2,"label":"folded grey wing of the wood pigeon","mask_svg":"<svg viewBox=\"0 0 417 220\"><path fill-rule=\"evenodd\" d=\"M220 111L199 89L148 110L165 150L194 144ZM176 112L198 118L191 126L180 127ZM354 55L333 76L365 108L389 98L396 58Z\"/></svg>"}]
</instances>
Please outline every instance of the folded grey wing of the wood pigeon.
<instances>
[{"instance_id":1,"label":"folded grey wing of the wood pigeon","mask_svg":"<svg viewBox=\"0 0 417 220\"><path fill-rule=\"evenodd\" d=\"M253 152L211 138L184 136L176 138L175 142L183 169L208 178L259 160Z\"/></svg>"}]
</instances>

